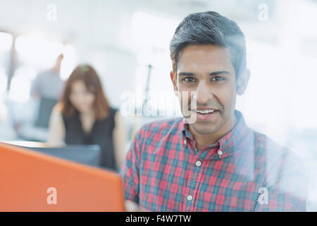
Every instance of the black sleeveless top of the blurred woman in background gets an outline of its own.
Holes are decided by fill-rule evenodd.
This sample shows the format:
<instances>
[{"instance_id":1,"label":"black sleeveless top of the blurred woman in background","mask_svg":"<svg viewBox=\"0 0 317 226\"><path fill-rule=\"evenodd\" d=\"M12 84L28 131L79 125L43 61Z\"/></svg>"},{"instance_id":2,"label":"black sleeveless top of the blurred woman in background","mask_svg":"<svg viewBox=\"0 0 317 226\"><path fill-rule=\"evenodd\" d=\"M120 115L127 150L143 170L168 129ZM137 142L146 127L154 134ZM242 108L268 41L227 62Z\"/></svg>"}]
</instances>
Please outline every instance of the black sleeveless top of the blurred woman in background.
<instances>
[{"instance_id":1,"label":"black sleeveless top of the blurred woman in background","mask_svg":"<svg viewBox=\"0 0 317 226\"><path fill-rule=\"evenodd\" d=\"M73 145L100 145L101 167L117 170L113 148L114 116L116 112L117 109L111 107L106 119L94 121L92 131L89 134L86 134L82 128L82 121L80 121L80 114L78 112L71 117L63 115L63 122L66 129L65 143Z\"/></svg>"}]
</instances>

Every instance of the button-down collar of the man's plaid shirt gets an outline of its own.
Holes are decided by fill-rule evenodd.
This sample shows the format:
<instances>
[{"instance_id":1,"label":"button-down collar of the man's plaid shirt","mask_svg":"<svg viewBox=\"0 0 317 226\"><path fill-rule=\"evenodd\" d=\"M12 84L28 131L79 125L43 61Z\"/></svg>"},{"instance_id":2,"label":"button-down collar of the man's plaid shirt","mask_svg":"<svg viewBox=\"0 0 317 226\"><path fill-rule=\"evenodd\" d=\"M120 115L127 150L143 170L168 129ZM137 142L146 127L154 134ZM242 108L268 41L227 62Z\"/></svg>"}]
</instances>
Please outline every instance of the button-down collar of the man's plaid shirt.
<instances>
[{"instance_id":1,"label":"button-down collar of the man's plaid shirt","mask_svg":"<svg viewBox=\"0 0 317 226\"><path fill-rule=\"evenodd\" d=\"M230 153L234 152L243 138L245 138L248 133L251 131L247 124L244 121L244 117L242 113L238 110L235 110L235 116L237 117L237 123L232 129L226 133L223 137L221 137L216 143L209 145L209 148L217 148L217 151L221 151L221 157L226 157ZM188 124L183 118L181 121L181 133L183 138L188 138L189 140L193 140L192 133L190 133L188 129Z\"/></svg>"}]
</instances>

